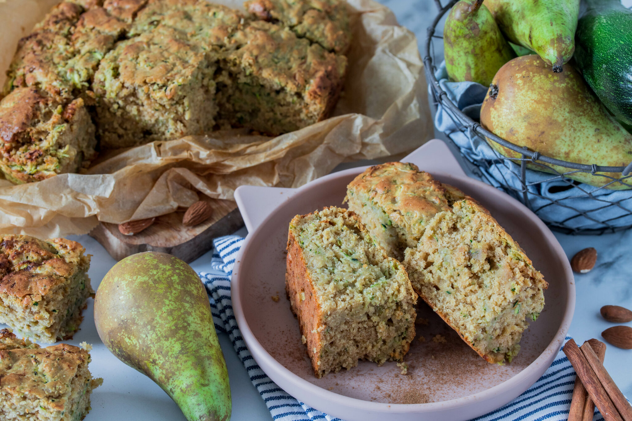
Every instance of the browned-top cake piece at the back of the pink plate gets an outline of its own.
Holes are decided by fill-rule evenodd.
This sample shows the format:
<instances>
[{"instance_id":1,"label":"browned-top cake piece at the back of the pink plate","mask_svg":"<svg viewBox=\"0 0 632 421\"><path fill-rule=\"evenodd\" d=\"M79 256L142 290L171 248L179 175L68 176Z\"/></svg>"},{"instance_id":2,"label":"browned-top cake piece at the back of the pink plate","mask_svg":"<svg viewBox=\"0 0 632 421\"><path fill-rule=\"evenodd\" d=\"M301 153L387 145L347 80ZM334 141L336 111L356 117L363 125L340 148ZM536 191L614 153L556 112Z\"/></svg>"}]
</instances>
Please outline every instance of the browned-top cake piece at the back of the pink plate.
<instances>
[{"instance_id":1,"label":"browned-top cake piece at the back of the pink plate","mask_svg":"<svg viewBox=\"0 0 632 421\"><path fill-rule=\"evenodd\" d=\"M451 191L460 192L456 187ZM349 183L344 201L387 254L399 261L406 247L416 246L432 217L450 209L441 183L403 162L368 168Z\"/></svg>"}]
</instances>

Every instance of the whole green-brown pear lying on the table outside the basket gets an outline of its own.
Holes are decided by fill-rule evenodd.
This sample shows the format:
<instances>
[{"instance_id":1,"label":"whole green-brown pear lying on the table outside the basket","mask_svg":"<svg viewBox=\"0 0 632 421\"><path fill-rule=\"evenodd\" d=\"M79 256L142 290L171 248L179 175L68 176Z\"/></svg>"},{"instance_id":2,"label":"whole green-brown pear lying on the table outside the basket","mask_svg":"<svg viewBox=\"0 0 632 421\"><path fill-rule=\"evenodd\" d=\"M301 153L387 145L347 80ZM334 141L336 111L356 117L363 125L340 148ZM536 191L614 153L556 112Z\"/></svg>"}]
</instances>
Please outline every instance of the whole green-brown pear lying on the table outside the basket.
<instances>
[{"instance_id":1,"label":"whole green-brown pear lying on the table outside the basket","mask_svg":"<svg viewBox=\"0 0 632 421\"><path fill-rule=\"evenodd\" d=\"M119 261L99 285L94 322L106 347L161 386L187 420L230 419L226 362L191 266L158 252Z\"/></svg>"}]
</instances>

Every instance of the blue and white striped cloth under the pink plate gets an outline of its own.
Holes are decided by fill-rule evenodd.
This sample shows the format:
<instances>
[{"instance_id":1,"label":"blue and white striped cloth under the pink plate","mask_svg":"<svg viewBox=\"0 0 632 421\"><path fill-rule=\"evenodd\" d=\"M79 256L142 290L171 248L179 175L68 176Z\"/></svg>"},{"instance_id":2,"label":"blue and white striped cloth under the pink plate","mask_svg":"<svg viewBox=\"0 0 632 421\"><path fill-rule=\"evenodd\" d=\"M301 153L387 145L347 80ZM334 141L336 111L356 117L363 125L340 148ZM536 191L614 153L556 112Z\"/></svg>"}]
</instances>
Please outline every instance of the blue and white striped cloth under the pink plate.
<instances>
[{"instance_id":1,"label":"blue and white striped cloth under the pink plate","mask_svg":"<svg viewBox=\"0 0 632 421\"><path fill-rule=\"evenodd\" d=\"M236 235L228 235L213 240L212 270L199 274L209 293L215 328L218 332L228 333L235 351L246 366L250 380L270 410L272 419L279 421L343 421L340 418L330 417L314 408L310 408L305 403L293 398L289 393L279 388L259 368L252 355L250 355L250 351L248 351L235 321L230 294L230 279L231 275L233 275L233 266L243 240L243 238ZM567 420L574 381L575 372L573 367L566 359L566 355L560 351L553 364L544 373L544 376L540 377L525 393L502 408L475 418L475 420ZM595 410L593 421L603 421L603 419L599 412Z\"/></svg>"}]
</instances>

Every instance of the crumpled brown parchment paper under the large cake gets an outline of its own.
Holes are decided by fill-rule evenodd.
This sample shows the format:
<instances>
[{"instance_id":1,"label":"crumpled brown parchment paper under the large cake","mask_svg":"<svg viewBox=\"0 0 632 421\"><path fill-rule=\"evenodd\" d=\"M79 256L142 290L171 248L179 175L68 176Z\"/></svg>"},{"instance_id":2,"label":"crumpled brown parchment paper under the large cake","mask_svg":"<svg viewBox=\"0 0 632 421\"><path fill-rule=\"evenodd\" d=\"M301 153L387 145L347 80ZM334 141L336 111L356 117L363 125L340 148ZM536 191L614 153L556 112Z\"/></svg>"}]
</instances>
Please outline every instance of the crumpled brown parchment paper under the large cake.
<instances>
[{"instance_id":1,"label":"crumpled brown parchment paper under the large cake","mask_svg":"<svg viewBox=\"0 0 632 421\"><path fill-rule=\"evenodd\" d=\"M0 69L18 40L57 0L0 0ZM241 1L221 3L241 8ZM164 215L198 193L233 199L242 184L299 187L344 160L410 151L433 134L415 35L371 0L353 9L349 71L333 117L276 138L221 131L106 151L87 174L61 174L13 186L0 179L0 232L58 237L85 234L98 221Z\"/></svg>"}]
</instances>

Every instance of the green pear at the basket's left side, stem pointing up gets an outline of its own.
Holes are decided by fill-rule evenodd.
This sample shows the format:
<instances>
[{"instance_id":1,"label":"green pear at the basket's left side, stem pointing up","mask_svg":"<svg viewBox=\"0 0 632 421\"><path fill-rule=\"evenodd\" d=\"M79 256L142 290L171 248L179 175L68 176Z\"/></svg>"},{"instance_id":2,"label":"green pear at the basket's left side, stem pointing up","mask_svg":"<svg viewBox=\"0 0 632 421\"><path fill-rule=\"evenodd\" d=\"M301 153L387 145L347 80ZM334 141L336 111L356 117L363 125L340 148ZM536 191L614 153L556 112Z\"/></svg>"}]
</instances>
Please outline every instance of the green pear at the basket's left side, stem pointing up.
<instances>
[{"instance_id":1,"label":"green pear at the basket's left side, stem pointing up","mask_svg":"<svg viewBox=\"0 0 632 421\"><path fill-rule=\"evenodd\" d=\"M447 15L443 44L451 81L489 86L498 69L516 57L482 3L461 0Z\"/></svg>"}]
</instances>

